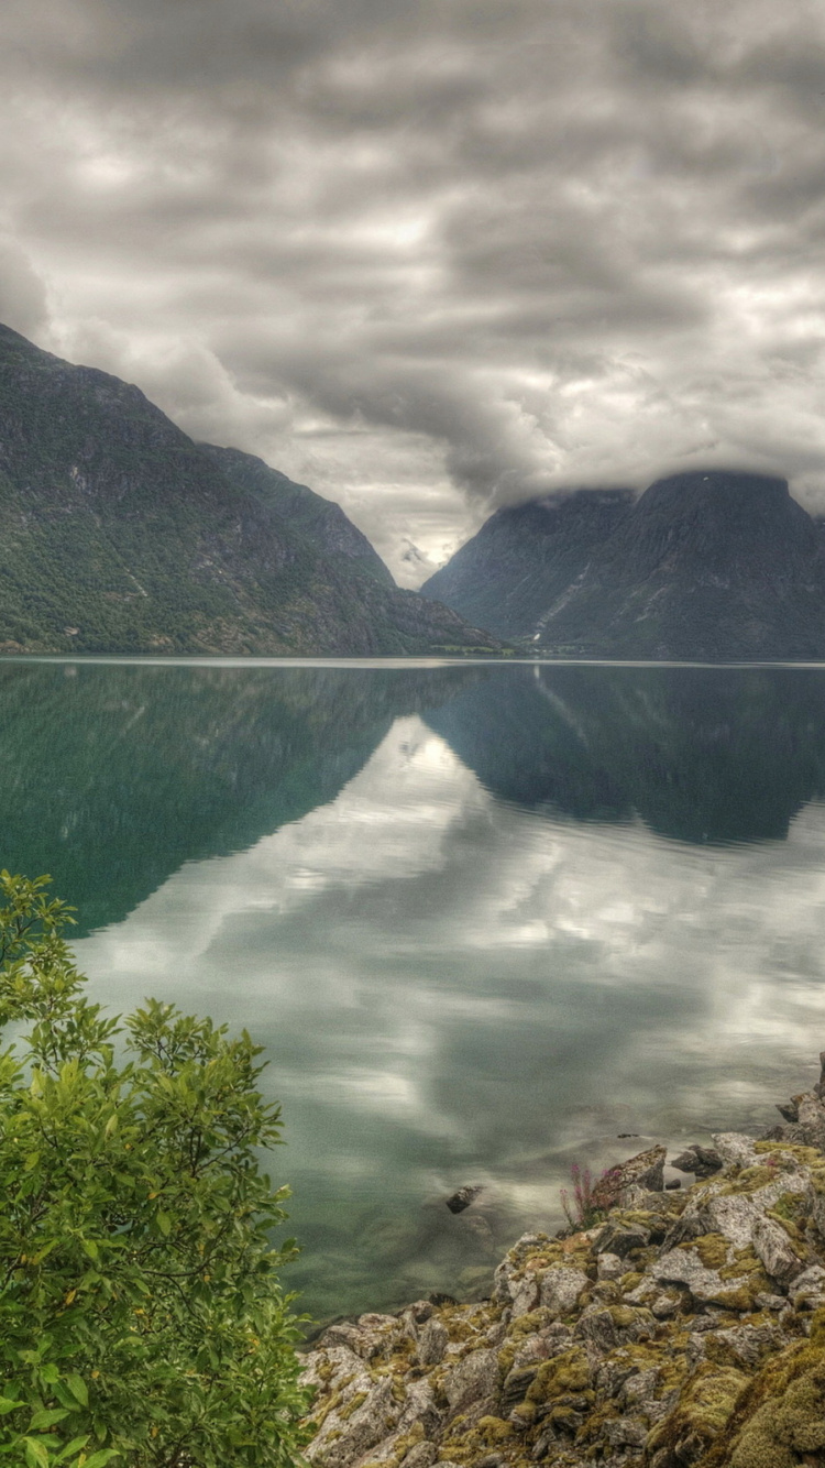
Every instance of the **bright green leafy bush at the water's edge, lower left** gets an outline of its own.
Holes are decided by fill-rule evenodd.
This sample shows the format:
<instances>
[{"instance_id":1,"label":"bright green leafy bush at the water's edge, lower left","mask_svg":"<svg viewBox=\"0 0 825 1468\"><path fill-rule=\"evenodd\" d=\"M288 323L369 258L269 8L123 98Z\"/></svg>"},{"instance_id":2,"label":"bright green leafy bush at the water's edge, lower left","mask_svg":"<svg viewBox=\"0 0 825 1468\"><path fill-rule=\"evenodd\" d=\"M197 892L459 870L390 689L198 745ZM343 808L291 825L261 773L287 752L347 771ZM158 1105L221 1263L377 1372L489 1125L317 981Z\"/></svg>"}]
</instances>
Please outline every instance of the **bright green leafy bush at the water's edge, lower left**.
<instances>
[{"instance_id":1,"label":"bright green leafy bush at the water's edge, lower left","mask_svg":"<svg viewBox=\"0 0 825 1468\"><path fill-rule=\"evenodd\" d=\"M305 1442L260 1048L84 997L48 878L0 873L0 1462L286 1468Z\"/></svg>"}]
</instances>

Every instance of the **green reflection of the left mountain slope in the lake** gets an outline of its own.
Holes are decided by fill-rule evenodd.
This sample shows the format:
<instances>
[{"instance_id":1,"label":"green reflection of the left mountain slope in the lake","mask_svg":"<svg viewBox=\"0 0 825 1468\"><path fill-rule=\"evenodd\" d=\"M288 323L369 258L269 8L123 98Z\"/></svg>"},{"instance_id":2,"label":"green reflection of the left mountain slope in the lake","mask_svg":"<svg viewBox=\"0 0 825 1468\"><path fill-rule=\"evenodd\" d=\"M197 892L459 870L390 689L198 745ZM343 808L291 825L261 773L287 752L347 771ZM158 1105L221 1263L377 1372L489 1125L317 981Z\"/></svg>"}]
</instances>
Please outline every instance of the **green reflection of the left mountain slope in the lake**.
<instances>
[{"instance_id":1,"label":"green reflection of the left mountain slope in the lake","mask_svg":"<svg viewBox=\"0 0 825 1468\"><path fill-rule=\"evenodd\" d=\"M51 872L81 932L188 860L332 800L399 713L473 669L0 662L1 865Z\"/></svg>"}]
</instances>

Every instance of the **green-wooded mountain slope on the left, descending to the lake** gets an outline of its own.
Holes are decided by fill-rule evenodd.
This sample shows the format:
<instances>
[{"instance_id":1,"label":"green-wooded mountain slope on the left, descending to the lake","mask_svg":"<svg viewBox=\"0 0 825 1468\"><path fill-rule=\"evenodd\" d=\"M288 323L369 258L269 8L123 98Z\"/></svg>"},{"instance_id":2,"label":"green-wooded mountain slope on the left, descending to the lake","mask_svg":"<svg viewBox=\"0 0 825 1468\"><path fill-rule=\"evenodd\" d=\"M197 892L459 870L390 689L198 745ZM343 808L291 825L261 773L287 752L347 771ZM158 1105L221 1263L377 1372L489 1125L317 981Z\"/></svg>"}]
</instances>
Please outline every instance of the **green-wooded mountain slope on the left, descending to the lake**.
<instances>
[{"instance_id":1,"label":"green-wooded mountain slope on the left, descending to the lake","mask_svg":"<svg viewBox=\"0 0 825 1468\"><path fill-rule=\"evenodd\" d=\"M0 652L404 655L493 637L332 505L0 327Z\"/></svg>"}]
</instances>

